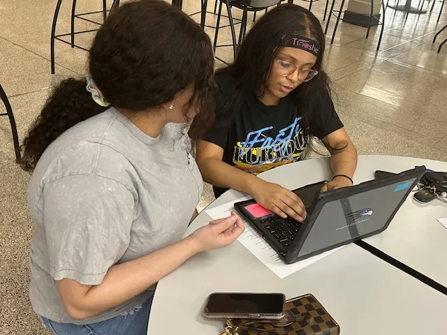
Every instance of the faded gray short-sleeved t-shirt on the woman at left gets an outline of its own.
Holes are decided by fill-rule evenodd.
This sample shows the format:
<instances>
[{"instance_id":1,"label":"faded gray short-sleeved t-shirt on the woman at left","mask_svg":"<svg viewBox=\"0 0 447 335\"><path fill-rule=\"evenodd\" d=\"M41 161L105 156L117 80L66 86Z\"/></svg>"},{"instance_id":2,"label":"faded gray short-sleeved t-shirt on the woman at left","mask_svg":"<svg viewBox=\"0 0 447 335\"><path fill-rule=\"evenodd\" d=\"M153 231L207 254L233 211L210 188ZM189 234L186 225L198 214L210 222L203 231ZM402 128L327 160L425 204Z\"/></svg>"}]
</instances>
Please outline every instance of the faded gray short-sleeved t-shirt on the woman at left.
<instances>
[{"instance_id":1,"label":"faded gray short-sleeved t-shirt on the woman at left","mask_svg":"<svg viewBox=\"0 0 447 335\"><path fill-rule=\"evenodd\" d=\"M54 280L98 285L108 269L182 238L203 191L182 124L149 137L115 108L73 126L44 152L28 186L36 231L30 299L38 315L87 324L129 311L154 287L85 320L64 310Z\"/></svg>"}]
</instances>

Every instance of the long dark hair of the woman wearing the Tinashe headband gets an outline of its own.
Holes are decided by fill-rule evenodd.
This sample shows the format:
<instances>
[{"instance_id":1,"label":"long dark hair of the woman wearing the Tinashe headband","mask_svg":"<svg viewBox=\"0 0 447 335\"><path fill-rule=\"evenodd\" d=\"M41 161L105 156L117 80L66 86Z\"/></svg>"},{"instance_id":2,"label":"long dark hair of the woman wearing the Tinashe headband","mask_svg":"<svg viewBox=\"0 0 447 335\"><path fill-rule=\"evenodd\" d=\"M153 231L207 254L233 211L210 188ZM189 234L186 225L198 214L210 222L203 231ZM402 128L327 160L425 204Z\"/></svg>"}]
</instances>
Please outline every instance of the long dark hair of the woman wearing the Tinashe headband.
<instances>
[{"instance_id":1,"label":"long dark hair of the woman wearing the Tinashe headband","mask_svg":"<svg viewBox=\"0 0 447 335\"><path fill-rule=\"evenodd\" d=\"M302 116L305 136L312 135L309 133L312 111L321 105L323 98L330 92L330 80L323 70L325 36L315 15L293 4L279 5L265 13L244 38L233 64L217 70L217 73L228 73L236 80L223 98L223 125L233 121L235 112L240 110L245 97L253 94L262 96L265 93L274 59L281 51L281 45L292 34L312 38L321 47L314 66L318 75L288 94Z\"/></svg>"}]
</instances>

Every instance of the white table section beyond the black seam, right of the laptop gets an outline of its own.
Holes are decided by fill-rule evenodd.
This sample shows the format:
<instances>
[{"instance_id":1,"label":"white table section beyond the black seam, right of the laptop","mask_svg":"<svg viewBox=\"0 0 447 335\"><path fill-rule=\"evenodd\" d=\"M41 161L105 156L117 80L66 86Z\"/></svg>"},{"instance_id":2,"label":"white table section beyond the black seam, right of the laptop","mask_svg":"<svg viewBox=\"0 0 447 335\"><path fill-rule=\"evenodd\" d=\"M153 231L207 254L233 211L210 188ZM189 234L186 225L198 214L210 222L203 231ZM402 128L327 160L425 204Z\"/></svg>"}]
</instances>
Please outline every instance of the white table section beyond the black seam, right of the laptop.
<instances>
[{"instance_id":1,"label":"white table section beyond the black seam, right of the laptop","mask_svg":"<svg viewBox=\"0 0 447 335\"><path fill-rule=\"evenodd\" d=\"M408 157L360 156L359 165L390 172L425 165L430 170L447 172L446 162ZM356 172L356 182L369 178L371 172L365 168ZM388 229L365 242L447 287L447 229L437 221L438 218L447 218L445 202L433 200L419 204L410 196Z\"/></svg>"}]
</instances>

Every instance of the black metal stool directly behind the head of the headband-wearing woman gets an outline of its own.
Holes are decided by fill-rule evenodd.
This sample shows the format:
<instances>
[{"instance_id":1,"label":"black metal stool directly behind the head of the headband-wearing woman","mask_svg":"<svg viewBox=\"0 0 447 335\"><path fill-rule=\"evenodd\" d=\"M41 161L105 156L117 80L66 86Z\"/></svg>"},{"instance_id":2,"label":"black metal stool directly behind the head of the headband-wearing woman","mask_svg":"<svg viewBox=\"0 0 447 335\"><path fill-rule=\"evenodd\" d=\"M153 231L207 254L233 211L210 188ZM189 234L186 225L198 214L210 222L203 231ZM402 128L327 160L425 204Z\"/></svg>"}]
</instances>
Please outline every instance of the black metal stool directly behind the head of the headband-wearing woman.
<instances>
[{"instance_id":1,"label":"black metal stool directly behind the head of the headband-wearing woman","mask_svg":"<svg viewBox=\"0 0 447 335\"><path fill-rule=\"evenodd\" d=\"M247 15L249 12L258 12L261 10L266 10L272 6L280 3L280 0L219 0L219 11L217 13L217 27L214 33L214 51L217 47L229 47L233 46L233 56L236 57L237 47L242 43L244 39L245 33L247 32ZM226 10L228 13L228 20L230 21L230 29L231 29L231 38L233 40L233 44L229 45L217 45L217 38L219 36L219 24L221 20L222 14L222 5L225 4ZM233 15L231 14L231 8L239 8L242 10L242 20L240 22L240 33L239 40L236 40L236 32L235 32L235 23L233 20ZM220 59L221 60L221 59ZM225 63L225 62L224 62Z\"/></svg>"}]
</instances>

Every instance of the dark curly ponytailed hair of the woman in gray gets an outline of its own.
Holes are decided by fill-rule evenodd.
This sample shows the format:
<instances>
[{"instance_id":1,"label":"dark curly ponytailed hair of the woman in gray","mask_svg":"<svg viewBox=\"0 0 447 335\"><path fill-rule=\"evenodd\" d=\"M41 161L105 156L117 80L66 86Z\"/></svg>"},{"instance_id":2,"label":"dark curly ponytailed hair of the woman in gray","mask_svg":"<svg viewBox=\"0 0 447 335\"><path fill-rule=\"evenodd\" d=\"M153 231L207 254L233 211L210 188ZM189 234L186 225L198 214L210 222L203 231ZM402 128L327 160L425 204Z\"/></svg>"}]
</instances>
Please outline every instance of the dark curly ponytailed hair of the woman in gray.
<instances>
[{"instance_id":1,"label":"dark curly ponytailed hair of the woman in gray","mask_svg":"<svg viewBox=\"0 0 447 335\"><path fill-rule=\"evenodd\" d=\"M200 113L189 135L197 139L214 120L214 54L210 38L181 10L161 0L124 4L98 30L89 73L112 106L140 112L172 101L193 86ZM34 170L43 151L68 128L106 110L86 80L63 80L24 139L21 167Z\"/></svg>"}]
</instances>

